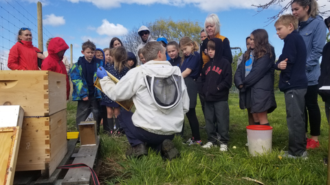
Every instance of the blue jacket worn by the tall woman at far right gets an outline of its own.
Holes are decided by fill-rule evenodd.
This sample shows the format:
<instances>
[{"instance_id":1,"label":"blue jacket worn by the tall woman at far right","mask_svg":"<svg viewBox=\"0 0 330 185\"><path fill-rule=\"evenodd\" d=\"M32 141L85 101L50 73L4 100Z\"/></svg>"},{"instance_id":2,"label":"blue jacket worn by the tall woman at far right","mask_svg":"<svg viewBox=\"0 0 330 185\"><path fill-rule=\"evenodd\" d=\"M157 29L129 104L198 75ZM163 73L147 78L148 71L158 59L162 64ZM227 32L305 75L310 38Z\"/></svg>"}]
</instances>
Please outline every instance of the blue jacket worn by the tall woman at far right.
<instances>
[{"instance_id":1,"label":"blue jacket worn by the tall woman at far right","mask_svg":"<svg viewBox=\"0 0 330 185\"><path fill-rule=\"evenodd\" d=\"M319 60L325 46L327 27L322 16L318 15L316 18L309 17L307 21L300 22L298 31L303 36L307 47L306 75L308 85L314 86L318 84L318 77L320 77Z\"/></svg>"}]
</instances>

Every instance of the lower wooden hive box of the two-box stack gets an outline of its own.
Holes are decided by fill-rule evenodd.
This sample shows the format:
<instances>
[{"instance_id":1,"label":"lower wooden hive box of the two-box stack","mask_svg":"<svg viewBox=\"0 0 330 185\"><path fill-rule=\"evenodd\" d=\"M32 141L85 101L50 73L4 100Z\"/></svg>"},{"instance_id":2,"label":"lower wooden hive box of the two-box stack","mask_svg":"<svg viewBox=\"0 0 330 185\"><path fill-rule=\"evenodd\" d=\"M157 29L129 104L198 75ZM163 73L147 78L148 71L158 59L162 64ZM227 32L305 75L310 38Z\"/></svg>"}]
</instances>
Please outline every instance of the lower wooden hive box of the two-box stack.
<instances>
[{"instance_id":1,"label":"lower wooden hive box of the two-box stack","mask_svg":"<svg viewBox=\"0 0 330 185\"><path fill-rule=\"evenodd\" d=\"M16 171L42 170L52 175L67 153L67 112L23 119Z\"/></svg>"}]
</instances>

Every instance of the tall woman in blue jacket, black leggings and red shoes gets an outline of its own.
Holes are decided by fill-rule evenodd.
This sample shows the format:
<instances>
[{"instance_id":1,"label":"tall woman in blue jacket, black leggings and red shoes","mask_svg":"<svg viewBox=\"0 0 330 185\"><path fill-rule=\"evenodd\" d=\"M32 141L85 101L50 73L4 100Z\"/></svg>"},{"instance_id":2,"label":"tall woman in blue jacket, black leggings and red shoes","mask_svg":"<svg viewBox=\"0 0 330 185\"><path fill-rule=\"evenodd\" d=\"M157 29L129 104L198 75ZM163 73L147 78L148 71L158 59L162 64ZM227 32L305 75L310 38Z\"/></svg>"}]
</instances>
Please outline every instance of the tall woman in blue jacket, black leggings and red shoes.
<instances>
[{"instance_id":1,"label":"tall woman in blue jacket, black leggings and red shoes","mask_svg":"<svg viewBox=\"0 0 330 185\"><path fill-rule=\"evenodd\" d=\"M319 147L321 114L318 107L318 77L320 77L319 59L325 45L327 27L322 16L318 15L316 0L294 0L291 4L292 14L299 20L298 31L307 47L306 75L308 79L307 93L305 95L305 122L306 132L308 126L311 138L307 139L307 149ZM307 114L308 112L308 114Z\"/></svg>"}]
</instances>

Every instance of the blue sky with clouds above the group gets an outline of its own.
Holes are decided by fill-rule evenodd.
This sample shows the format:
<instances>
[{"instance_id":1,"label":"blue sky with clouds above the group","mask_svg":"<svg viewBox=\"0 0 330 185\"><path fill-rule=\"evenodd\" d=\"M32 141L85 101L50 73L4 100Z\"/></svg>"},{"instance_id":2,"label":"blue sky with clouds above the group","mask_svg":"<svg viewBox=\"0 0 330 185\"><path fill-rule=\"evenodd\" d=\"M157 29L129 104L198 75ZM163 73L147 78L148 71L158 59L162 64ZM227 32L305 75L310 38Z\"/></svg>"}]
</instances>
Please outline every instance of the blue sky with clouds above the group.
<instances>
[{"instance_id":1,"label":"blue sky with clouds above the group","mask_svg":"<svg viewBox=\"0 0 330 185\"><path fill-rule=\"evenodd\" d=\"M267 17L280 10L274 6L256 14L252 3L266 0L43 0L43 40L50 36L60 36L68 45L74 46L74 62L81 56L81 43L90 39L97 47L109 47L113 36L121 38L133 27L155 21L157 18L172 18L174 21L190 19L199 21L201 26L210 13L216 13L221 23L221 35L230 40L231 47L241 47L245 51L245 38L254 29L266 29L270 42L275 47L276 56L281 54L283 41L276 36L274 23L266 26ZM124 2L124 3L123 3ZM319 0L326 5L327 0ZM283 3L284 5L284 3ZM330 15L330 14L329 14ZM328 15L328 16L329 16ZM9 22L8 22L9 21ZM36 1L0 0L0 60L8 57L8 49L14 45L20 27L32 29L33 44L37 44ZM45 44L45 43L44 43ZM44 50L46 50L44 48ZM69 57L69 50L65 53ZM0 61L1 62L1 61Z\"/></svg>"}]
</instances>

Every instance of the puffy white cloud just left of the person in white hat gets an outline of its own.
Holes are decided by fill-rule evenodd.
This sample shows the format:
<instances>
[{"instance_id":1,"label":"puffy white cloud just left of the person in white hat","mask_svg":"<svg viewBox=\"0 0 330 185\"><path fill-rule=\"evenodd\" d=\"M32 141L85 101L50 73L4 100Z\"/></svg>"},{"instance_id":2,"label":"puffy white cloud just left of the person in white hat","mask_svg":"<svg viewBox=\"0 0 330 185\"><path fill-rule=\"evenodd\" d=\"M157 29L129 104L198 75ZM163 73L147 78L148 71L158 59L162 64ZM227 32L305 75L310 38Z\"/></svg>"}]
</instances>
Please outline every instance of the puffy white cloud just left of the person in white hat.
<instances>
[{"instance_id":1,"label":"puffy white cloud just left of the person in white hat","mask_svg":"<svg viewBox=\"0 0 330 185\"><path fill-rule=\"evenodd\" d=\"M123 25L120 24L115 25L113 23L109 23L107 19L103 19L102 25L100 25L100 27L96 29L96 32L98 32L100 36L106 35L109 37L113 37L113 36L123 36L127 34L129 31Z\"/></svg>"}]
</instances>

